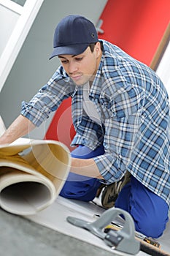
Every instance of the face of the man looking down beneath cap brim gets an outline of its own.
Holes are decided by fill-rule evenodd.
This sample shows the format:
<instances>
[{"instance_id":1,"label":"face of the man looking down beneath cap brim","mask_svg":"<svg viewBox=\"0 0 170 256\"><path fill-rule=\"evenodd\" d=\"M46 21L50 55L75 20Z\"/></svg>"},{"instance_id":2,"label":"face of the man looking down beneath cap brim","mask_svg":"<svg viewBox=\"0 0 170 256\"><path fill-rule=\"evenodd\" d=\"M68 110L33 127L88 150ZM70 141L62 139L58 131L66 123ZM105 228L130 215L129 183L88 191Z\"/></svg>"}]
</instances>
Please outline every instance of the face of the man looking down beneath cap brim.
<instances>
[{"instance_id":1,"label":"face of the man looking down beneath cap brim","mask_svg":"<svg viewBox=\"0 0 170 256\"><path fill-rule=\"evenodd\" d=\"M101 59L100 43L97 42L93 53L88 47L79 55L60 55L58 58L61 61L63 68L77 86L82 86L88 81L93 81L98 64Z\"/></svg>"}]
</instances>

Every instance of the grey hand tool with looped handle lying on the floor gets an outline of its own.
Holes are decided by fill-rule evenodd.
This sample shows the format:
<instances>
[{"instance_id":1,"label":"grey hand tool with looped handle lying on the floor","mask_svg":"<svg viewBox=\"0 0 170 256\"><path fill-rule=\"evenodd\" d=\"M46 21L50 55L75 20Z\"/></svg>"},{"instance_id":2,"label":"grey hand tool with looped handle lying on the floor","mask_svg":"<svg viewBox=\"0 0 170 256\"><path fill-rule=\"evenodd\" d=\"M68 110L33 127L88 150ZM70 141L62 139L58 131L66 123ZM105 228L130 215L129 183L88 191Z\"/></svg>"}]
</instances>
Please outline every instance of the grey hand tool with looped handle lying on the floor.
<instances>
[{"instance_id":1,"label":"grey hand tool with looped handle lying on the floor","mask_svg":"<svg viewBox=\"0 0 170 256\"><path fill-rule=\"evenodd\" d=\"M113 222L120 214L125 218L123 228L117 231L109 230L108 233L104 233L104 227ZM94 222L87 222L70 216L66 220L72 225L82 227L93 235L98 236L112 249L117 249L120 252L131 255L136 255L140 250L140 242L135 238L134 220L127 211L120 208L109 208Z\"/></svg>"}]
</instances>

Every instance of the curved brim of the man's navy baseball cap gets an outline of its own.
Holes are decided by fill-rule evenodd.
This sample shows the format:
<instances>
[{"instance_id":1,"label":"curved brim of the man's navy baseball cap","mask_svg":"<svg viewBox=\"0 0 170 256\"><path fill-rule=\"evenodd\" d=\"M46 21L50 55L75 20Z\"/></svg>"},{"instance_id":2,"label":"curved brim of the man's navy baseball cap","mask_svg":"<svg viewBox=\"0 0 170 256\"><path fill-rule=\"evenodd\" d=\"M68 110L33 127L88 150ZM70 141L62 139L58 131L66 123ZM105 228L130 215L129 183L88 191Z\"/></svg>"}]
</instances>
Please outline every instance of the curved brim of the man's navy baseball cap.
<instances>
[{"instance_id":1,"label":"curved brim of the man's navy baseball cap","mask_svg":"<svg viewBox=\"0 0 170 256\"><path fill-rule=\"evenodd\" d=\"M59 46L54 48L50 59L58 55L79 55L88 48L89 43L81 44L81 45L67 45L67 46Z\"/></svg>"}]
</instances>

